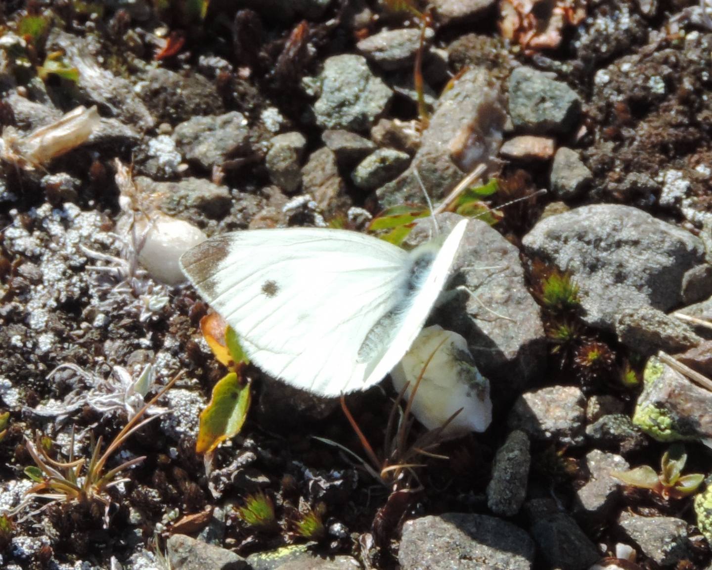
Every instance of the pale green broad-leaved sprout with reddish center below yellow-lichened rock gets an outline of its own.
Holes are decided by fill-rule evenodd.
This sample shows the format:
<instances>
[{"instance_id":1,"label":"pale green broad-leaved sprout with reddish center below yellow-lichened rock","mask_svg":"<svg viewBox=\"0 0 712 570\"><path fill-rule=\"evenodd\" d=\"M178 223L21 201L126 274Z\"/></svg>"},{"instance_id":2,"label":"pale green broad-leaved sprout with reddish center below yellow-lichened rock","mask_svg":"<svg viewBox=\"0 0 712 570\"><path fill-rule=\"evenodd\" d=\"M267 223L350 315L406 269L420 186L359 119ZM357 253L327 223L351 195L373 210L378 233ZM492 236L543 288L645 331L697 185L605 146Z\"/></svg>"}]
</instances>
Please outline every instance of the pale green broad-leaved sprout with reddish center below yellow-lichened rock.
<instances>
[{"instance_id":1,"label":"pale green broad-leaved sprout with reddish center below yellow-lichened rock","mask_svg":"<svg viewBox=\"0 0 712 570\"><path fill-rule=\"evenodd\" d=\"M705 478L700 473L682 475L686 461L685 447L674 444L664 453L659 474L649 465L642 465L630 471L612 472L611 475L631 487L650 489L663 499L682 499L695 494Z\"/></svg>"}]
</instances>

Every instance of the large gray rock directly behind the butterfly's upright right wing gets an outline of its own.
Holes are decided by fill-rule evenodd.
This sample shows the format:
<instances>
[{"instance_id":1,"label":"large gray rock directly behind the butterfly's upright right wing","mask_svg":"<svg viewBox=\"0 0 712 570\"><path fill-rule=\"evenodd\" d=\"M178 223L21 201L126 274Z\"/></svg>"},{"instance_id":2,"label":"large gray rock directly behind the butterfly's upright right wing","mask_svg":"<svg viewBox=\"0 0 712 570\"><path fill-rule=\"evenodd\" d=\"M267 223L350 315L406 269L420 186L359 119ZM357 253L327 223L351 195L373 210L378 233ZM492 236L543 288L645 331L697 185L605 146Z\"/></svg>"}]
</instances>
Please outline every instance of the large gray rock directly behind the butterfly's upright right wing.
<instances>
[{"instance_id":1,"label":"large gray rock directly behind the butterfly's upright right wing","mask_svg":"<svg viewBox=\"0 0 712 570\"><path fill-rule=\"evenodd\" d=\"M442 214L437 219L446 234L462 218ZM405 243L412 247L431 233L431 220L421 219ZM435 320L467 339L479 371L490 380L493 401L511 401L539 375L547 358L540 307L527 289L519 250L485 222L471 219L453 274L476 298L457 291Z\"/></svg>"}]
</instances>

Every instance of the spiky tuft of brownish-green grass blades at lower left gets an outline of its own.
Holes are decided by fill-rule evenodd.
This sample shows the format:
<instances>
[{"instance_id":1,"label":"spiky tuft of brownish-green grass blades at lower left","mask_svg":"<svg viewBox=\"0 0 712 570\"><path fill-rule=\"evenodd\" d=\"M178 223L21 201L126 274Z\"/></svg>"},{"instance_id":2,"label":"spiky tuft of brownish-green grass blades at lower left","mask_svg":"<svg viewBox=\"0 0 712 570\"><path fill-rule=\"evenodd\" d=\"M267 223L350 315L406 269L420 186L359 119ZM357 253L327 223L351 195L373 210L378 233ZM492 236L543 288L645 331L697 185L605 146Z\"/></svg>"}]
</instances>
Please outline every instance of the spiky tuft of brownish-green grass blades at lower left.
<instances>
[{"instance_id":1,"label":"spiky tuft of brownish-green grass blades at lower left","mask_svg":"<svg viewBox=\"0 0 712 570\"><path fill-rule=\"evenodd\" d=\"M56 503L99 504L104 507L104 526L108 527L111 506L111 497L108 494L109 489L122 482L129 481L126 478L118 478L118 475L130 467L138 465L145 460L145 457L136 457L110 470L106 470L106 464L130 435L158 417L155 415L152 418L142 419L149 408L176 383L180 376L180 374L174 376L159 393L151 398L128 421L103 453L101 452L102 438L99 437L96 442L93 442L88 462L85 457L76 459L74 456L73 430L69 457L66 462L54 460L50 457L48 445L43 442L41 435L38 435L34 442L27 440L26 447L35 462L35 466L28 467L26 475L36 481L37 484L28 489L26 499L15 509L14 513L26 507L33 499L48 500L48 504L42 507L40 511ZM32 514L36 513L31 513L28 516Z\"/></svg>"}]
</instances>

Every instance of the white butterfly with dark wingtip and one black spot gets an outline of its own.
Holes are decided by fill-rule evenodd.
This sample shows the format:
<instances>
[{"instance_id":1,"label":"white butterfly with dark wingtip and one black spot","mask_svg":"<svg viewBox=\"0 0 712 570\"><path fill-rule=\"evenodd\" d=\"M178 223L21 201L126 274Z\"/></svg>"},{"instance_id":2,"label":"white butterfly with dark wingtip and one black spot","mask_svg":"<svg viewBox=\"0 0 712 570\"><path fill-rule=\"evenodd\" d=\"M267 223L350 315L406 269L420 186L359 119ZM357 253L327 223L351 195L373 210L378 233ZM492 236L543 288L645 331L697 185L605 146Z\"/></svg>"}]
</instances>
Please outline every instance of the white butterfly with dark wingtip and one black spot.
<instances>
[{"instance_id":1,"label":"white butterfly with dark wingtip and one black spot","mask_svg":"<svg viewBox=\"0 0 712 570\"><path fill-rule=\"evenodd\" d=\"M466 225L412 252L343 229L232 232L194 247L181 266L253 363L335 396L378 383L408 351Z\"/></svg>"}]
</instances>

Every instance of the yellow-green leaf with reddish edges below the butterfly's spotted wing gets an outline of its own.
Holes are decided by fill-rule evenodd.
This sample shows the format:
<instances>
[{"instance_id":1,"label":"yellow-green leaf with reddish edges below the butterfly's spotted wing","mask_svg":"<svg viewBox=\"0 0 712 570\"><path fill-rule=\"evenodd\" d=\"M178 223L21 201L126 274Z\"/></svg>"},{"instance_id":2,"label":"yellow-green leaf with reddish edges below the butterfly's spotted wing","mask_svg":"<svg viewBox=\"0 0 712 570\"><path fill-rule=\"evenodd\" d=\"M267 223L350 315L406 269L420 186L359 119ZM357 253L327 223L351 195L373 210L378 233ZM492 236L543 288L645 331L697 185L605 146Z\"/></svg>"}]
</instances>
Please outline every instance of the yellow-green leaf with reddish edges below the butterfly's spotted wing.
<instances>
[{"instance_id":1,"label":"yellow-green leaf with reddish edges below the butterfly's spotted wing","mask_svg":"<svg viewBox=\"0 0 712 570\"><path fill-rule=\"evenodd\" d=\"M250 384L236 373L219 380L210 403L200 414L196 452L211 452L220 442L237 435L247 418L250 402Z\"/></svg>"}]
</instances>

